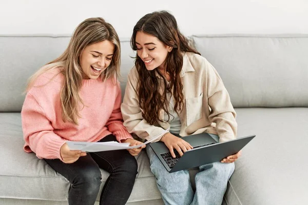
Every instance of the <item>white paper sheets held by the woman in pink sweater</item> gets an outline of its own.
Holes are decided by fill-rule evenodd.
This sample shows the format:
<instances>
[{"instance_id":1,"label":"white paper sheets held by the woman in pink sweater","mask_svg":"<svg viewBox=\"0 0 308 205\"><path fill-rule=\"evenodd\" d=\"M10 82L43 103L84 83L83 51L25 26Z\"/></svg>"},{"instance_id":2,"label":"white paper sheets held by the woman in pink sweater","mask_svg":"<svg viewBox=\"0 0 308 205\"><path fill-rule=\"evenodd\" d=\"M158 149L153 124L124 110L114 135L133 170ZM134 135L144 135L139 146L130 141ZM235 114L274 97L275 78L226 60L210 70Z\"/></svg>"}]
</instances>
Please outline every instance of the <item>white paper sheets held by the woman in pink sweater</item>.
<instances>
[{"instance_id":1,"label":"white paper sheets held by the woman in pink sweater","mask_svg":"<svg viewBox=\"0 0 308 205\"><path fill-rule=\"evenodd\" d=\"M129 143L119 143L117 141L106 141L106 142L86 142L86 141L66 141L70 150L81 150L83 152L102 152L110 150L124 150L124 149L133 149L139 148L143 145L146 145L153 140L157 139L165 133L160 133L155 137L147 140L141 145L129 146Z\"/></svg>"}]
</instances>

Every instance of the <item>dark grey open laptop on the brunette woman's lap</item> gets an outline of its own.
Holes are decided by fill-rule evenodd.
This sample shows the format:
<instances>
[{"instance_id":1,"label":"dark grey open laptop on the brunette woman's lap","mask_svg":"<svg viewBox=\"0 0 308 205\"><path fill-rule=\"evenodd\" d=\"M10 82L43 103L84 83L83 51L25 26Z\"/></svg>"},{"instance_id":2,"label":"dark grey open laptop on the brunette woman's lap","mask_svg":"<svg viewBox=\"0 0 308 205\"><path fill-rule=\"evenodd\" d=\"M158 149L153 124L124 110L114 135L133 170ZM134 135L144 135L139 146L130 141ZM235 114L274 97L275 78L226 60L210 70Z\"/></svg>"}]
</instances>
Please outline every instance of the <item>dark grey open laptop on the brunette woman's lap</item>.
<instances>
[{"instance_id":1,"label":"dark grey open laptop on the brunette woman's lap","mask_svg":"<svg viewBox=\"0 0 308 205\"><path fill-rule=\"evenodd\" d=\"M164 142L158 141L149 145L163 163L166 170L172 173L220 161L227 156L236 154L255 136L241 137L226 142L217 142L207 133L181 137L194 147L194 149L188 150L182 157L175 150L176 158L171 156Z\"/></svg>"}]
</instances>

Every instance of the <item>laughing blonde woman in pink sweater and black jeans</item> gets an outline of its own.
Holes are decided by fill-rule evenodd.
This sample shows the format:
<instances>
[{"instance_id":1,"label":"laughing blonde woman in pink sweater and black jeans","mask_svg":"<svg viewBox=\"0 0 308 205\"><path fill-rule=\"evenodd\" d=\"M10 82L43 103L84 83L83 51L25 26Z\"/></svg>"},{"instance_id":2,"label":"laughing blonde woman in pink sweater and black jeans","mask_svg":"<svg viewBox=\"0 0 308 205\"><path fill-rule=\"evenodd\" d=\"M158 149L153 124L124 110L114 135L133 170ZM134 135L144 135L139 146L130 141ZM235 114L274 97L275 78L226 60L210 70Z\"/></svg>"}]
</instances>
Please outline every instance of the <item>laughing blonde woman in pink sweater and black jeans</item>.
<instances>
[{"instance_id":1,"label":"laughing blonde woman in pink sweater and black jeans","mask_svg":"<svg viewBox=\"0 0 308 205\"><path fill-rule=\"evenodd\" d=\"M24 150L35 152L71 182L68 203L94 204L102 168L110 173L100 204L125 204L137 174L140 149L85 153L66 140L138 145L123 126L117 77L120 42L103 18L84 20L65 52L38 70L22 109Z\"/></svg>"}]
</instances>

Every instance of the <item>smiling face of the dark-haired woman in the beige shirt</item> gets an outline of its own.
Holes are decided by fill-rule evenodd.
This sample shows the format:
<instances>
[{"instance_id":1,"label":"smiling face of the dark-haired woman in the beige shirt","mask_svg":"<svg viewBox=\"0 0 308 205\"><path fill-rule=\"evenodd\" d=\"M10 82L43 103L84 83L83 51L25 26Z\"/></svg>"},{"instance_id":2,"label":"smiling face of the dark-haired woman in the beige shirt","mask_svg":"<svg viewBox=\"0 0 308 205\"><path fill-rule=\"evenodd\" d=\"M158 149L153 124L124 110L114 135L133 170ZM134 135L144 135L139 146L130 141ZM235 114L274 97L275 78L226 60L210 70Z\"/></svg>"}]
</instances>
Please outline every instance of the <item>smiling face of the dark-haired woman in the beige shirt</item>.
<instances>
[{"instance_id":1,"label":"smiling face of the dark-haired woman in the beige shirt","mask_svg":"<svg viewBox=\"0 0 308 205\"><path fill-rule=\"evenodd\" d=\"M164 71L164 63L172 47L163 44L157 37L138 31L136 34L137 55L147 70L156 68Z\"/></svg>"}]
</instances>

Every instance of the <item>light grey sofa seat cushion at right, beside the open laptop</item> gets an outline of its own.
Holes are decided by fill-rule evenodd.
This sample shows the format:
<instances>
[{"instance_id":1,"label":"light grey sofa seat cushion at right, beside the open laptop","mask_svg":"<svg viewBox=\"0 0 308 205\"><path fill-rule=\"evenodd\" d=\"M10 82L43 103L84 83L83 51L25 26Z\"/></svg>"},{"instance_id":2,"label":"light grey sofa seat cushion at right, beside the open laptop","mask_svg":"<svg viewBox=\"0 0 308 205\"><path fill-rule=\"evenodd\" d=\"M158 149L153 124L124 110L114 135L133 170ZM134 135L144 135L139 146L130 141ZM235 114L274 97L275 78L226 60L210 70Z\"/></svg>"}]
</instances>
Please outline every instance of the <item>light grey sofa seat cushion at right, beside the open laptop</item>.
<instances>
[{"instance_id":1,"label":"light grey sofa seat cushion at right, beside the open laptop","mask_svg":"<svg viewBox=\"0 0 308 205\"><path fill-rule=\"evenodd\" d=\"M307 204L308 108L236 109L238 137L255 134L229 180L228 204Z\"/></svg>"}]
</instances>

